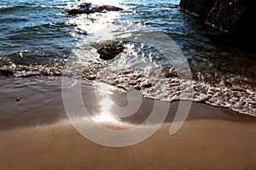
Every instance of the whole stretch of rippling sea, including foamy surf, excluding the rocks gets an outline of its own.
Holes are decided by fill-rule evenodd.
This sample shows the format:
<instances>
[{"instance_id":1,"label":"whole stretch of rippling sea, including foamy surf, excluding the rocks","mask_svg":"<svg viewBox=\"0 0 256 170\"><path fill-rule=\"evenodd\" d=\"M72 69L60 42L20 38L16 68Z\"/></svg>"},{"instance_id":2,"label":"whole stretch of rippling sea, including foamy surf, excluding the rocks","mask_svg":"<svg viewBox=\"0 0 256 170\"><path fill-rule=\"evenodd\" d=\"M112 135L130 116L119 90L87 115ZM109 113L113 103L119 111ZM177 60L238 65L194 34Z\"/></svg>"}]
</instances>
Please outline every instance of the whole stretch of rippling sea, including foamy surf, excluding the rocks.
<instances>
[{"instance_id":1,"label":"whole stretch of rippling sea, including foamy surf, excluding the rocks","mask_svg":"<svg viewBox=\"0 0 256 170\"><path fill-rule=\"evenodd\" d=\"M64 73L139 89L152 99L189 99L256 115L254 52L221 41L218 31L183 14L177 0L108 3L125 10L68 16L77 2L1 1L0 75ZM102 61L95 44L113 39L125 50Z\"/></svg>"}]
</instances>

